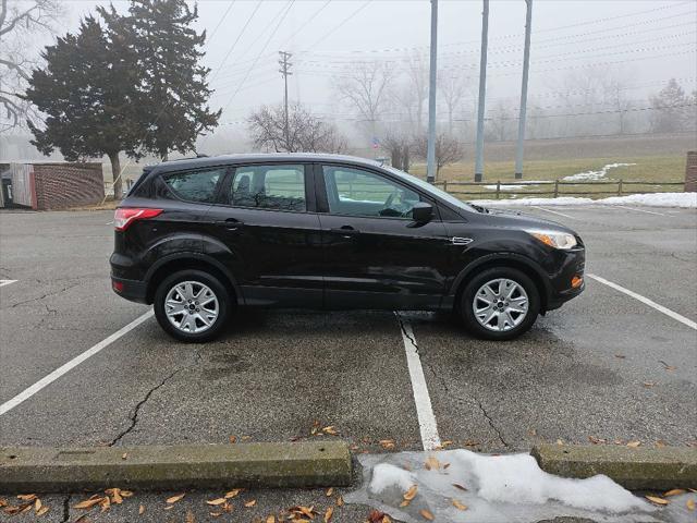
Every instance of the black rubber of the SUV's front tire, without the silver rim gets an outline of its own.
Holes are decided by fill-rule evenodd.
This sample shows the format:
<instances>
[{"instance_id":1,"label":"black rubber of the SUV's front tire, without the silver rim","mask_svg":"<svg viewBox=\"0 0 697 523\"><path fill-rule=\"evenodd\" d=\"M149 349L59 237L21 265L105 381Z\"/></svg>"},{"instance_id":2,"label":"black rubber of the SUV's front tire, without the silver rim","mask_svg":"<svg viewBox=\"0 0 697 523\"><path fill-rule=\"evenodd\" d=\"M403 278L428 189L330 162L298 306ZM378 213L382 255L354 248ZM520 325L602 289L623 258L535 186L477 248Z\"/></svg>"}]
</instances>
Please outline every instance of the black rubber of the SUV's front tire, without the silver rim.
<instances>
[{"instance_id":1,"label":"black rubber of the SUV's front tire, without the silver rim","mask_svg":"<svg viewBox=\"0 0 697 523\"><path fill-rule=\"evenodd\" d=\"M474 311L474 300L477 291L485 283L499 278L512 280L521 285L525 290L528 301L528 309L523 320L515 327L503 331L490 330L484 327L475 317ZM497 341L511 340L526 332L537 319L540 312L540 295L533 280L524 272L509 267L494 267L475 275L469 280L462 292L458 312L465 328L477 338Z\"/></svg>"}]
</instances>

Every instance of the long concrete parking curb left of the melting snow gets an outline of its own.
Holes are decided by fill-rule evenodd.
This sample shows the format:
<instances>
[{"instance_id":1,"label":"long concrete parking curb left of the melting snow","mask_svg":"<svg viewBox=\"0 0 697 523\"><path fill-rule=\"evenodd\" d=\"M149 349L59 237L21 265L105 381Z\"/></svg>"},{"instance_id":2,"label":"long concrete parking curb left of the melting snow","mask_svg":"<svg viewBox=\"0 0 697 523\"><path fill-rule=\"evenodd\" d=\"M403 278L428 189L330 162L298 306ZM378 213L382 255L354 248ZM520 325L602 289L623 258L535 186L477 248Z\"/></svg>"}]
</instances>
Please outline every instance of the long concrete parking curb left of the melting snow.
<instances>
[{"instance_id":1,"label":"long concrete parking curb left of the melting snow","mask_svg":"<svg viewBox=\"0 0 697 523\"><path fill-rule=\"evenodd\" d=\"M351 454L341 441L0 448L4 492L329 487L351 484Z\"/></svg>"}]
</instances>

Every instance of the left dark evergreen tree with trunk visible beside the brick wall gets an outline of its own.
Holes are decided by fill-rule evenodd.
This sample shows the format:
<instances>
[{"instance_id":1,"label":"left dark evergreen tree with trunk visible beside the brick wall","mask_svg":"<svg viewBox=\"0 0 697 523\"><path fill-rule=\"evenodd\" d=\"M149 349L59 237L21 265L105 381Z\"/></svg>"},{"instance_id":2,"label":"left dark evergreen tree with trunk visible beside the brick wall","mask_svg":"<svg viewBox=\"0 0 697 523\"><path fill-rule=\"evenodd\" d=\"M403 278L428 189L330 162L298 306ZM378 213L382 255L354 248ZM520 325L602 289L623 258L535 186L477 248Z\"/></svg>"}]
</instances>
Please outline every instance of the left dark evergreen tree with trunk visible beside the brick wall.
<instances>
[{"instance_id":1,"label":"left dark evergreen tree with trunk visible beside the brick wall","mask_svg":"<svg viewBox=\"0 0 697 523\"><path fill-rule=\"evenodd\" d=\"M108 38L93 16L77 34L59 37L42 52L46 69L32 72L25 97L47 114L42 129L27 122L45 155L58 148L69 161L107 155L121 197L119 154L138 158L134 99L135 57Z\"/></svg>"}]
</instances>

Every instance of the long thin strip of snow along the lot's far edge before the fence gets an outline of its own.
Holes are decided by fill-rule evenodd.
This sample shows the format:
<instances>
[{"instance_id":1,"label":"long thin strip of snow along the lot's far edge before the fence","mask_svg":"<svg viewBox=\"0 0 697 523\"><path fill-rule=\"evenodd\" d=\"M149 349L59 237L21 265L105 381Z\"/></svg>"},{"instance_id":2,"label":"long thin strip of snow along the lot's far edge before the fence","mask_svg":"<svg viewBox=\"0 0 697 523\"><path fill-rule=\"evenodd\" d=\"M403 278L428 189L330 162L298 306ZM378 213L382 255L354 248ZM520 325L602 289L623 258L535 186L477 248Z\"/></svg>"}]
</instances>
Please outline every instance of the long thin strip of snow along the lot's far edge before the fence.
<instances>
[{"instance_id":1,"label":"long thin strip of snow along the lot's far edge before the fence","mask_svg":"<svg viewBox=\"0 0 697 523\"><path fill-rule=\"evenodd\" d=\"M561 196L559 198L512 198L512 199L474 199L475 205L485 207L518 207L541 205L575 206L575 205L645 205L648 207L681 207L697 208L697 193L650 193L631 194L627 196L611 196L602 199Z\"/></svg>"}]
</instances>

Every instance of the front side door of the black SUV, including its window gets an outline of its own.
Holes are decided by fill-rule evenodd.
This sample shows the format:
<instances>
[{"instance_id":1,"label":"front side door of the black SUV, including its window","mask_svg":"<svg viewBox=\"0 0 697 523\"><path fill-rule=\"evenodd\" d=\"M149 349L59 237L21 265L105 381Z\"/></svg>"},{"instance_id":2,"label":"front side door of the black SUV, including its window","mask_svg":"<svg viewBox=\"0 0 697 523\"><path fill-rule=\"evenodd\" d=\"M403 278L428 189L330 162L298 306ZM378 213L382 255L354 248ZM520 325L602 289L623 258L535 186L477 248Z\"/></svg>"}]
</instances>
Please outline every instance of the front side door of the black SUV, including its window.
<instances>
[{"instance_id":1,"label":"front side door of the black SUV, including its window","mask_svg":"<svg viewBox=\"0 0 697 523\"><path fill-rule=\"evenodd\" d=\"M417 202L432 202L367 169L325 165L318 179L327 211L319 218L326 306L438 308L449 267L447 230L436 209L425 224L411 217Z\"/></svg>"}]
</instances>

